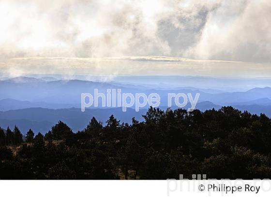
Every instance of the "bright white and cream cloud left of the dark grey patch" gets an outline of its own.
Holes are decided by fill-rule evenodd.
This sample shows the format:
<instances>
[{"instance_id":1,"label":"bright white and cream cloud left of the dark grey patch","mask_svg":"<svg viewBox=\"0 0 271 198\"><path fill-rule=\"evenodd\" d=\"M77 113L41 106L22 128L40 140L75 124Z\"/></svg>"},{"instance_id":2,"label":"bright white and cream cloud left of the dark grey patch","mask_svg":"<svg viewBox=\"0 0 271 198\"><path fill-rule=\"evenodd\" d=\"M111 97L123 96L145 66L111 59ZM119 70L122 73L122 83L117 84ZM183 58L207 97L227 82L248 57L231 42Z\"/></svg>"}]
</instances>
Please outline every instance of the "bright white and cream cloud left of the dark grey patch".
<instances>
[{"instance_id":1,"label":"bright white and cream cloud left of the dark grey patch","mask_svg":"<svg viewBox=\"0 0 271 198\"><path fill-rule=\"evenodd\" d=\"M170 47L156 36L164 6L146 2L1 1L2 57L169 54Z\"/></svg>"}]
</instances>

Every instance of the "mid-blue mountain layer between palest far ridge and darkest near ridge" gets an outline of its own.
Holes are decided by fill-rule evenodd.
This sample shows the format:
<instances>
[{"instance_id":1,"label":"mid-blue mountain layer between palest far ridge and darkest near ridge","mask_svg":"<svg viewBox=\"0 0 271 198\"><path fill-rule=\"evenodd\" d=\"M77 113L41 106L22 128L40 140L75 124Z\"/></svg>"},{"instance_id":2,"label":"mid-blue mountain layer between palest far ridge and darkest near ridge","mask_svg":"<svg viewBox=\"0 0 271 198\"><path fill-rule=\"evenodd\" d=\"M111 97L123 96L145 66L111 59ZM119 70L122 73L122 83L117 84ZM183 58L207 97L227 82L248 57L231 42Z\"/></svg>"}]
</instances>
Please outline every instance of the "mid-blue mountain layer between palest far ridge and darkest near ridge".
<instances>
[{"instance_id":1,"label":"mid-blue mountain layer between palest far ridge and darkest near ridge","mask_svg":"<svg viewBox=\"0 0 271 198\"><path fill-rule=\"evenodd\" d=\"M184 87L179 89L146 89L142 86L132 86L125 84L110 84L104 82L92 82L81 80L57 80L44 81L35 78L19 78L0 81L0 99L27 100L30 102L45 102L53 104L78 104L81 103L82 93L94 93L98 89L99 93L106 94L107 89L121 89L121 93L157 93L161 97L161 106L167 105L168 93L191 93L194 97L200 94L199 102L211 101L214 104L225 105L232 103L247 102L262 98L271 99L271 87L253 88L243 92L222 92L211 93L210 90Z\"/></svg>"}]
</instances>

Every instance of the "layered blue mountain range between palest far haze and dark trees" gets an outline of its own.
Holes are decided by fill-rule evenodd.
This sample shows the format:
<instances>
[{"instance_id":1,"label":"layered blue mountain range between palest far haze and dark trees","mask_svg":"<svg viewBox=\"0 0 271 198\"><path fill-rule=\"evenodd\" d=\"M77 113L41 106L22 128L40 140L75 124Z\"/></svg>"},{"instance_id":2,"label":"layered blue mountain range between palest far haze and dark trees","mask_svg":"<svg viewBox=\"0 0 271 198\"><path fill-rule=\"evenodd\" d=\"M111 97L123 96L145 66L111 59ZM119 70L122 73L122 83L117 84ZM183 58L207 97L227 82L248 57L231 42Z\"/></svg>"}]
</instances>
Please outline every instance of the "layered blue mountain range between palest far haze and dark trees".
<instances>
[{"instance_id":1,"label":"layered blue mountain range between palest far haze and dark trees","mask_svg":"<svg viewBox=\"0 0 271 198\"><path fill-rule=\"evenodd\" d=\"M125 78L126 79L126 78ZM136 79L140 79L139 77ZM145 78L141 78L145 79ZM155 78L157 79L157 78ZM158 78L159 79L159 78ZM163 79L161 77L161 79ZM177 79L174 77L172 79ZM124 123L131 123L132 117L142 121L142 114L149 108L141 108L135 112L135 107L127 108L97 108L90 107L81 112L81 94L90 93L94 89L106 94L107 89L121 89L121 93L157 93L161 97L160 108L167 109L168 93L191 93L193 98L199 93L196 109L205 111L219 109L222 106L233 106L250 113L265 113L271 116L271 87L255 87L245 91L228 92L208 87L192 86L178 87L159 84L144 84L140 82L127 83L121 78L118 81L92 82L86 80L59 80L55 77L16 77L0 80L0 127L18 126L23 134L33 129L35 133L47 132L59 120L67 123L75 132L86 127L92 118L104 124L111 114ZM128 80L128 79L126 79ZM132 81L132 80L131 80ZM100 104L100 103L99 103ZM184 109L190 108L188 103ZM176 109L176 106L172 106Z\"/></svg>"}]
</instances>

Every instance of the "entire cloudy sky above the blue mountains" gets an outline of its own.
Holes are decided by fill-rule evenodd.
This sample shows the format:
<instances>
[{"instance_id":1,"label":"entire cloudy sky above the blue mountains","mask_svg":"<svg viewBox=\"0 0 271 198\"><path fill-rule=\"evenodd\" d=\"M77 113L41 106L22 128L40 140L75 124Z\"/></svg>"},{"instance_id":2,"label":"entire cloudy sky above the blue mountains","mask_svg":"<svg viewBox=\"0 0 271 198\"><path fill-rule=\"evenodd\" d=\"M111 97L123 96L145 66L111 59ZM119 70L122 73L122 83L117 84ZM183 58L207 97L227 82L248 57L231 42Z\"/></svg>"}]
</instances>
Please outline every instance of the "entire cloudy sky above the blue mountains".
<instances>
[{"instance_id":1,"label":"entire cloudy sky above the blue mountains","mask_svg":"<svg viewBox=\"0 0 271 198\"><path fill-rule=\"evenodd\" d=\"M0 0L0 73L271 77L270 0Z\"/></svg>"}]
</instances>

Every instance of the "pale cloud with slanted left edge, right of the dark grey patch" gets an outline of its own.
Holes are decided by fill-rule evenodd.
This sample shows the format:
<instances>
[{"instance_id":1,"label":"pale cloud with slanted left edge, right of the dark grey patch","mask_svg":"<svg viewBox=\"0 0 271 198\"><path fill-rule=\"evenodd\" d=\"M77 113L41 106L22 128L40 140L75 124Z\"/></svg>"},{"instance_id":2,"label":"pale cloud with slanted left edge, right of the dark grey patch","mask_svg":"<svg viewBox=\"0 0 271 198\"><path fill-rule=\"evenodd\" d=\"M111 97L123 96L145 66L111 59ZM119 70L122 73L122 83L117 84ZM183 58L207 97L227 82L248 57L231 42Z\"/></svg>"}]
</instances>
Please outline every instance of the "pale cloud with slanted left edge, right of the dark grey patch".
<instances>
[{"instance_id":1,"label":"pale cloud with slanted left edge, right of the dark grey patch","mask_svg":"<svg viewBox=\"0 0 271 198\"><path fill-rule=\"evenodd\" d=\"M209 14L198 42L184 56L271 62L269 0L223 1Z\"/></svg>"}]
</instances>

